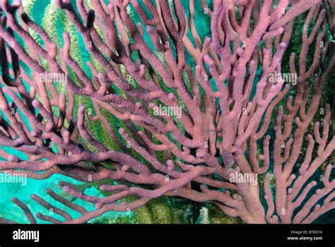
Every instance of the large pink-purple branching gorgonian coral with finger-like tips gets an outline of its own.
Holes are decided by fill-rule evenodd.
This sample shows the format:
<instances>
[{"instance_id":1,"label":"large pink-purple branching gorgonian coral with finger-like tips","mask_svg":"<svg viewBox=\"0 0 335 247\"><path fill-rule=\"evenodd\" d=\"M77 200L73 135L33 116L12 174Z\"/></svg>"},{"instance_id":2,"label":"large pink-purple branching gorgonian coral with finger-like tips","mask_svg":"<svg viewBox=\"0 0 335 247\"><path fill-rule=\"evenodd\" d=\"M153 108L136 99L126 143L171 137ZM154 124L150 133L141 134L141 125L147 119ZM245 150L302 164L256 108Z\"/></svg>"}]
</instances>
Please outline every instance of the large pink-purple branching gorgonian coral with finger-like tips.
<instances>
[{"instance_id":1,"label":"large pink-purple branching gorgonian coral with finger-like tips","mask_svg":"<svg viewBox=\"0 0 335 247\"><path fill-rule=\"evenodd\" d=\"M310 223L334 209L331 164L319 176L335 148L322 100L335 63L334 1L57 0L42 25L34 2L0 5L0 145L26 155L1 150L0 169L98 183L103 197L59 183L95 204L90 212L47 189L81 213L75 219L32 195L64 222L163 195L213 203L247 223ZM198 34L196 8L210 18L210 37ZM287 49L301 14L296 57Z\"/></svg>"}]
</instances>

